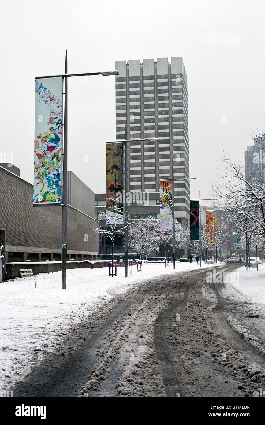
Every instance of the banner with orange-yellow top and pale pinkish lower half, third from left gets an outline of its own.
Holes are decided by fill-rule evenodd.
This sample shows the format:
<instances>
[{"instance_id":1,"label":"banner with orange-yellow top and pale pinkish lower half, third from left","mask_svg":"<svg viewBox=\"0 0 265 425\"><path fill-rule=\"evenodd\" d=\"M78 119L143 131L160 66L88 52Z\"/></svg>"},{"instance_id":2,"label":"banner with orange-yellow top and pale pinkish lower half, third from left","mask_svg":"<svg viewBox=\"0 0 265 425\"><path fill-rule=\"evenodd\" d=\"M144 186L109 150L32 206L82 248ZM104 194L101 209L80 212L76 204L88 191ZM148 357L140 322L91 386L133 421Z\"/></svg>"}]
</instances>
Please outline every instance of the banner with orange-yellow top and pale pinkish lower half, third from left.
<instances>
[{"instance_id":1,"label":"banner with orange-yellow top and pale pinkish lower half, third from left","mask_svg":"<svg viewBox=\"0 0 265 425\"><path fill-rule=\"evenodd\" d=\"M172 235L172 180L160 180L160 234Z\"/></svg>"}]
</instances>

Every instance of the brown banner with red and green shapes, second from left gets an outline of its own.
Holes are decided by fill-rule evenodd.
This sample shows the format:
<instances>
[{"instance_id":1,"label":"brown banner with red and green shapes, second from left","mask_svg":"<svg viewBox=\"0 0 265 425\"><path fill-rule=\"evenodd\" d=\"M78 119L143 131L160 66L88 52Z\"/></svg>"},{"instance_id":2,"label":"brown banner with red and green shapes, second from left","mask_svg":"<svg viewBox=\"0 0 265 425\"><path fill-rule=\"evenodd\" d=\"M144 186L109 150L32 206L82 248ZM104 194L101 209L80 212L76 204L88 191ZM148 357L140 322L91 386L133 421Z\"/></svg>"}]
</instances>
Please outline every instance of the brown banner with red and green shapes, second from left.
<instances>
[{"instance_id":1,"label":"brown banner with red and green shapes, second from left","mask_svg":"<svg viewBox=\"0 0 265 425\"><path fill-rule=\"evenodd\" d=\"M106 158L106 210L113 211L114 204L123 206L123 142L107 143Z\"/></svg>"}]
</instances>

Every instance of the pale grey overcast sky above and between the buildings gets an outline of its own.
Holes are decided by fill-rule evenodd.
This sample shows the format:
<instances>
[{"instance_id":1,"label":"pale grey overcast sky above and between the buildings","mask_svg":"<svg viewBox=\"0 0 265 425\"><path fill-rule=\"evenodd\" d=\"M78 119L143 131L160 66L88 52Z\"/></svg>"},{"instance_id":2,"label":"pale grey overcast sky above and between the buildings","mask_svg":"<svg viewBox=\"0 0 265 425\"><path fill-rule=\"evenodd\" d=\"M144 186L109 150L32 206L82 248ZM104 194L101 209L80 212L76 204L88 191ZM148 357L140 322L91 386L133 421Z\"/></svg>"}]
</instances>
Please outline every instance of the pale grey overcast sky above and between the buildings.
<instances>
[{"instance_id":1,"label":"pale grey overcast sky above and between the buildings","mask_svg":"<svg viewBox=\"0 0 265 425\"><path fill-rule=\"evenodd\" d=\"M17 1L1 5L1 146L33 183L34 77L112 71L115 60L182 56L188 75L191 198L209 197L223 150L244 159L265 116L265 3L246 0ZM221 34L221 36L219 35ZM231 40L220 42L224 34ZM223 40L223 39L222 39ZM68 170L105 192L115 77L68 82ZM84 161L85 155L89 161ZM203 202L202 204L206 204Z\"/></svg>"}]
</instances>

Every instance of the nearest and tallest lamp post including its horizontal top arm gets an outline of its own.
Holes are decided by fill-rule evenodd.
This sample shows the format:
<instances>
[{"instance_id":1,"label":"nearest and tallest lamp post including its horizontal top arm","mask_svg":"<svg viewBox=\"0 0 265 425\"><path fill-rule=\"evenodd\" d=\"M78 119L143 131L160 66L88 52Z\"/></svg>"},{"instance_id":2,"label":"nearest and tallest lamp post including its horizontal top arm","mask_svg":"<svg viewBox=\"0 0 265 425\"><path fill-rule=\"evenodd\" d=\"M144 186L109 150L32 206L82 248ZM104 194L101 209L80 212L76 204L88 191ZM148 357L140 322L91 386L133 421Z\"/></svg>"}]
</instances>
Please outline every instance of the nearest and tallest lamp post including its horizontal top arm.
<instances>
[{"instance_id":1,"label":"nearest and tallest lamp post including its horizontal top arm","mask_svg":"<svg viewBox=\"0 0 265 425\"><path fill-rule=\"evenodd\" d=\"M67 70L67 49L66 49L66 63L65 63L65 74L60 75L49 75L45 77L35 77L35 79L41 78L55 78L63 77L65 79L64 85L64 123L63 123L63 196L62 196L62 283L63 289L66 289L66 267L67 267L67 204L68 204L68 194L67 194L67 129L68 129L68 120L67 120L67 90L68 90L68 77L85 77L90 75L119 75L118 71L101 71L101 72L90 72L84 74L68 74Z\"/></svg>"}]
</instances>

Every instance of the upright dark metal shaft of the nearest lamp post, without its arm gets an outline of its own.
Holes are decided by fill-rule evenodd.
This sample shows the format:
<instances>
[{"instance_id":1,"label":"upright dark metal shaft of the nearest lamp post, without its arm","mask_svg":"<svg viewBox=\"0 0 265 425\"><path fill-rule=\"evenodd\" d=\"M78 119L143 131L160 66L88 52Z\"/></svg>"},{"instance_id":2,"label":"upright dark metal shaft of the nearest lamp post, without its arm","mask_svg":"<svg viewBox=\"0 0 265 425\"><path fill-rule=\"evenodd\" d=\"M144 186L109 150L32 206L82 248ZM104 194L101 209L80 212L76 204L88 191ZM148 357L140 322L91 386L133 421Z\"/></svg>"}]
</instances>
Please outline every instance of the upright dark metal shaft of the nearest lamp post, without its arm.
<instances>
[{"instance_id":1,"label":"upright dark metal shaft of the nearest lamp post, without its arm","mask_svg":"<svg viewBox=\"0 0 265 425\"><path fill-rule=\"evenodd\" d=\"M63 206L62 206L62 281L66 289L67 267L67 50L66 75L64 82L64 124L63 124Z\"/></svg>"}]
</instances>

